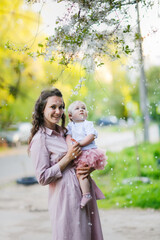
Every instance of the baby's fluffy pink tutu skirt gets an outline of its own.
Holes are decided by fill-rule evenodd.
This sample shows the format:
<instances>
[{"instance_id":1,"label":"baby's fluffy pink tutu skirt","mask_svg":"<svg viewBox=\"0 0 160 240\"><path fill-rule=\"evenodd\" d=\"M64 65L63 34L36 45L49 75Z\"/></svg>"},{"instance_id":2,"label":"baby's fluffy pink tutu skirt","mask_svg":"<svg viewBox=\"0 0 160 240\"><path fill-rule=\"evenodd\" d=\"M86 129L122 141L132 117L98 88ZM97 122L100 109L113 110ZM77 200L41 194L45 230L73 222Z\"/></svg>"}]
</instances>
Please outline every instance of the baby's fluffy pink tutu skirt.
<instances>
[{"instance_id":1,"label":"baby's fluffy pink tutu skirt","mask_svg":"<svg viewBox=\"0 0 160 240\"><path fill-rule=\"evenodd\" d=\"M107 156L104 151L97 148L92 148L82 151L81 155L75 160L75 164L78 167L88 165L94 167L95 169L104 169L107 164Z\"/></svg>"}]
</instances>

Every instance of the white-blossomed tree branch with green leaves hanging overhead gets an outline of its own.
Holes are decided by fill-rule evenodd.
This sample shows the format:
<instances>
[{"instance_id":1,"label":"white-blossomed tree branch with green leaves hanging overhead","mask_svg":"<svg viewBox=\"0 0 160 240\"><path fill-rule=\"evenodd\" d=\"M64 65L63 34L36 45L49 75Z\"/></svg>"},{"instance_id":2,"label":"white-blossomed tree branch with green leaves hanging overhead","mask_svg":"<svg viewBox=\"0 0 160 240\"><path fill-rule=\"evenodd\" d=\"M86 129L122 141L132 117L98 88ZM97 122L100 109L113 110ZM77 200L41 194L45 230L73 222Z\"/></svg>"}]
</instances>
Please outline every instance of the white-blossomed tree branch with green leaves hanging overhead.
<instances>
[{"instance_id":1,"label":"white-blossomed tree branch with green leaves hanging overhead","mask_svg":"<svg viewBox=\"0 0 160 240\"><path fill-rule=\"evenodd\" d=\"M32 3L32 1L30 1ZM88 70L101 64L101 57L120 58L121 53L128 55L132 47L128 42L139 39L132 32L130 12L135 11L137 2L150 7L153 0L61 0L66 3L66 11L57 19L55 34L41 45L45 58L67 65L80 60ZM129 41L128 41L129 40ZM39 52L38 52L39 55Z\"/></svg>"}]
</instances>

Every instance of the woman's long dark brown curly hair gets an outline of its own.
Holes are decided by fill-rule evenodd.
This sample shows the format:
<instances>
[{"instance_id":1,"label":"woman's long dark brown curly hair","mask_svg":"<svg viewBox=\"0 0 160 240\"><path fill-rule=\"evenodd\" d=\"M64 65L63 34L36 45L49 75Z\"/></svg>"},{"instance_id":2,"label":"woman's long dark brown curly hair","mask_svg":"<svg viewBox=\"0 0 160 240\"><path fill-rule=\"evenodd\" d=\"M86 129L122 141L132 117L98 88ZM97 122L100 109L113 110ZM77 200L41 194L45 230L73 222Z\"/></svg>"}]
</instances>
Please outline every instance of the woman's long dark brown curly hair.
<instances>
[{"instance_id":1,"label":"woman's long dark brown curly hair","mask_svg":"<svg viewBox=\"0 0 160 240\"><path fill-rule=\"evenodd\" d=\"M32 129L31 129L31 135L29 137L28 143L30 144L33 136L36 134L36 132L39 130L40 127L44 126L44 116L43 116L43 111L45 109L47 99L52 96L57 96L57 97L63 97L62 93L57 89L53 88L51 90L44 90L41 92L39 98L37 99L34 107L34 112L32 115ZM65 104L63 106L65 108ZM62 123L61 126L64 130L64 133L66 131L65 128L65 114L63 113L62 115Z\"/></svg>"}]
</instances>

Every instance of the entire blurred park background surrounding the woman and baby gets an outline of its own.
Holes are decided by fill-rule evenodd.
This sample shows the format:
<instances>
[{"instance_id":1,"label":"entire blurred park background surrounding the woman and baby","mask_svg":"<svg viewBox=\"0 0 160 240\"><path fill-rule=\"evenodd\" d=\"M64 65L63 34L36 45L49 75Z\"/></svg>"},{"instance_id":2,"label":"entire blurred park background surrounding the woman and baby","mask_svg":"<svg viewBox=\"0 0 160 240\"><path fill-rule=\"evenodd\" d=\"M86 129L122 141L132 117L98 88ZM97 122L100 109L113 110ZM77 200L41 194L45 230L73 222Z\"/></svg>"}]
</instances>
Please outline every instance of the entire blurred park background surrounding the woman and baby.
<instances>
[{"instance_id":1,"label":"entire blurred park background surrounding the woman and baby","mask_svg":"<svg viewBox=\"0 0 160 240\"><path fill-rule=\"evenodd\" d=\"M84 12L76 12L76 2L84 3ZM66 115L72 101L86 103L88 120L98 131L97 146L108 156L105 169L92 175L106 197L98 202L104 238L159 239L155 210L160 208L160 2L105 1L113 9L107 20L101 16L103 6L99 13L95 8L103 2L0 1L3 239L50 237L46 188L36 185L27 142L35 101L51 87L62 91ZM75 14L73 19L70 14ZM75 24L79 28L70 20L80 22ZM106 34L104 21L112 34ZM75 46L80 45L77 54ZM109 209L123 211L111 210L110 215ZM122 219L124 226L118 225Z\"/></svg>"}]
</instances>

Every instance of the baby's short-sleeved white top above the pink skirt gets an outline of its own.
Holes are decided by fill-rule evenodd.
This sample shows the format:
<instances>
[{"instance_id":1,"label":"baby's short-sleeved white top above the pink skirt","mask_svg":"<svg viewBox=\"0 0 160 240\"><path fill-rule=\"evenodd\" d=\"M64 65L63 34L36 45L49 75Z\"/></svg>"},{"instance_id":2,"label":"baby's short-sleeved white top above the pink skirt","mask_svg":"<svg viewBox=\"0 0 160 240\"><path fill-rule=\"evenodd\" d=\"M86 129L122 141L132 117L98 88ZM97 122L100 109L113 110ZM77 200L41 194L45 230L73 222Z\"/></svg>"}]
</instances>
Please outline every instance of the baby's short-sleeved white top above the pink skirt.
<instances>
[{"instance_id":1,"label":"baby's short-sleeved white top above the pink skirt","mask_svg":"<svg viewBox=\"0 0 160 240\"><path fill-rule=\"evenodd\" d=\"M98 135L96 129L94 128L93 122L87 120L83 122L69 122L67 129L67 134L71 135L72 138L77 142L81 141L89 134L94 134L95 138L97 138ZM82 147L82 150L88 150L91 148L97 148L95 141L92 141L87 146Z\"/></svg>"}]
</instances>

